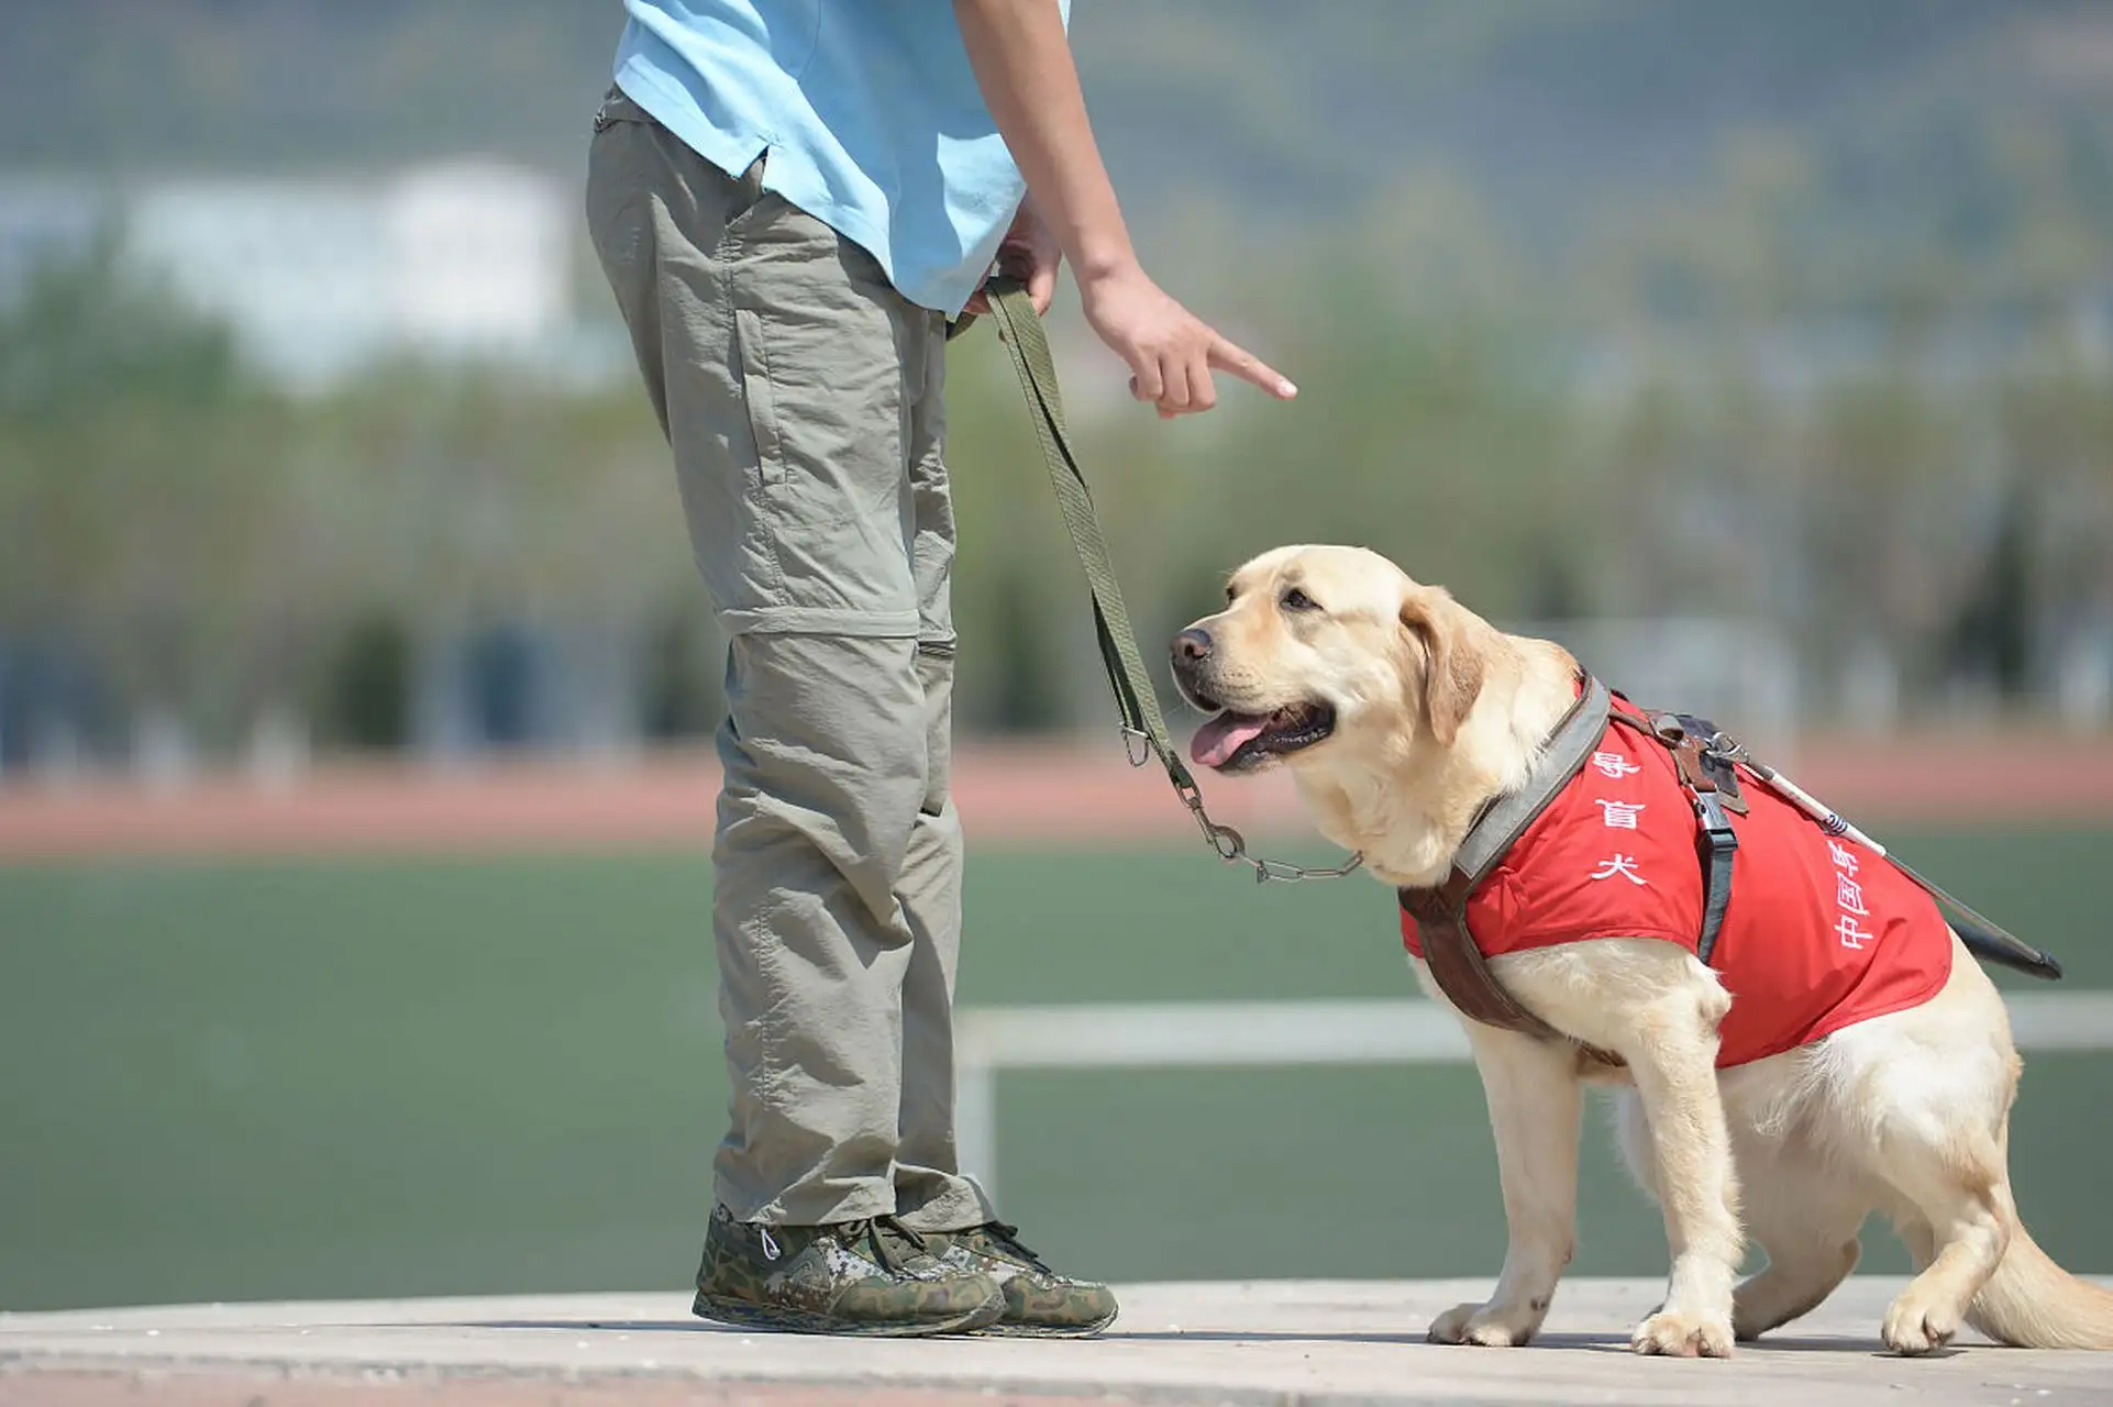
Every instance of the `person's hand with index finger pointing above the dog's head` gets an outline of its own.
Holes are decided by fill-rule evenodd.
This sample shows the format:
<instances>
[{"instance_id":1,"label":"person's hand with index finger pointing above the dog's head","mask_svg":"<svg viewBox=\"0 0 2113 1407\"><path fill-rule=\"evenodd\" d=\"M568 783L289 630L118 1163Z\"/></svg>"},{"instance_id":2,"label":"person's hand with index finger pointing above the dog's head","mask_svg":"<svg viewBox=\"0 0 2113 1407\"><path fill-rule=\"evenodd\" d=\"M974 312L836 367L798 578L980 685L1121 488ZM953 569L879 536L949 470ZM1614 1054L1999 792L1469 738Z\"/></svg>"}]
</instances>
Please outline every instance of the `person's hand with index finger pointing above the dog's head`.
<instances>
[{"instance_id":1,"label":"person's hand with index finger pointing above the dog's head","mask_svg":"<svg viewBox=\"0 0 2113 1407\"><path fill-rule=\"evenodd\" d=\"M1130 363L1130 395L1152 401L1162 420L1217 406L1211 372L1232 372L1280 401L1299 393L1261 357L1219 336L1175 302L1139 266L1082 279L1086 321Z\"/></svg>"}]
</instances>

